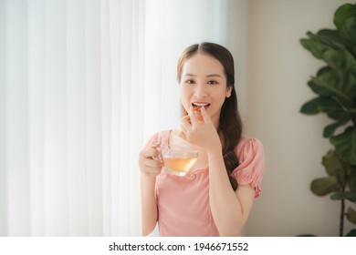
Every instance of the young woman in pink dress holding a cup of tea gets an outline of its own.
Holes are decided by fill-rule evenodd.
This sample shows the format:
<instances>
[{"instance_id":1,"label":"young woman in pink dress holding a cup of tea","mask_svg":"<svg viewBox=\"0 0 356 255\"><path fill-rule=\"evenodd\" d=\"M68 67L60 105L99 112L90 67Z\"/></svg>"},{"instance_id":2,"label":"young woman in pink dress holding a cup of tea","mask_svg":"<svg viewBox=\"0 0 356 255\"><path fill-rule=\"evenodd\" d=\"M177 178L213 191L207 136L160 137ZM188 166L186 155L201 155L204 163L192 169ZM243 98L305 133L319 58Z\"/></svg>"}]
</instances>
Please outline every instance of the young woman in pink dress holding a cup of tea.
<instances>
[{"instance_id":1,"label":"young woman in pink dress holding a cup of tea","mask_svg":"<svg viewBox=\"0 0 356 255\"><path fill-rule=\"evenodd\" d=\"M234 59L214 43L189 46L178 60L181 127L152 136L139 156L142 234L240 236L265 171L261 142L242 136ZM153 145L154 143L154 145ZM162 170L155 148L199 150L192 174Z\"/></svg>"}]
</instances>

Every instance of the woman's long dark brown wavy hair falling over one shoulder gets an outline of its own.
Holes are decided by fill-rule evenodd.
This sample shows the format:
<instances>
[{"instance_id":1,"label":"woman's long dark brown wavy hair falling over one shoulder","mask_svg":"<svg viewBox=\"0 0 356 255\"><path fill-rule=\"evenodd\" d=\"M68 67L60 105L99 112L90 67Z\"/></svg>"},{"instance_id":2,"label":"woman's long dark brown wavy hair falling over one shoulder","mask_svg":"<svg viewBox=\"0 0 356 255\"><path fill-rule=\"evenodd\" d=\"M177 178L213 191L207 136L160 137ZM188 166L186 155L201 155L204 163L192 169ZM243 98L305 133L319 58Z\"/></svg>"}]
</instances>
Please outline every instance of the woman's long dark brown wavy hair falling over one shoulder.
<instances>
[{"instance_id":1,"label":"woman's long dark brown wavy hair falling over one shoulder","mask_svg":"<svg viewBox=\"0 0 356 255\"><path fill-rule=\"evenodd\" d=\"M214 43L204 42L187 47L183 54L178 59L177 65L177 81L181 82L183 65L190 57L197 53L204 53L213 56L223 66L226 76L226 88L231 87L231 96L225 98L225 102L221 109L219 128L217 133L222 140L223 157L227 174L230 179L231 186L234 190L237 189L236 179L231 177L232 171L238 166L238 158L236 155L236 146L242 136L242 121L237 108L237 96L235 89L235 67L234 57L224 47ZM181 105L182 116L186 116L183 105Z\"/></svg>"}]
</instances>

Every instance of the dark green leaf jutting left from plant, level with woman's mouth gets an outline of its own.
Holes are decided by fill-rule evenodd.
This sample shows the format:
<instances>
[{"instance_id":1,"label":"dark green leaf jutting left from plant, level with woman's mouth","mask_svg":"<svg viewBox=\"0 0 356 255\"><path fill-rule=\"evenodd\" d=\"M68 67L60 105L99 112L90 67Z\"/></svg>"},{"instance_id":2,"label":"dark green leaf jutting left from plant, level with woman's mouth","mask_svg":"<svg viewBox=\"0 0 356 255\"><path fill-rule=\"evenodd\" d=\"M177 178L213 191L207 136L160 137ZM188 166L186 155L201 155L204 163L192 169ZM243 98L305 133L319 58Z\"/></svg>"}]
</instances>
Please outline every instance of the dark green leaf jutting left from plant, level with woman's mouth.
<instances>
[{"instance_id":1,"label":"dark green leaf jutting left from plant, level with woman's mouth","mask_svg":"<svg viewBox=\"0 0 356 255\"><path fill-rule=\"evenodd\" d=\"M313 98L300 108L300 112L306 115L315 115L320 112L340 111L342 111L340 104L330 97Z\"/></svg>"}]
</instances>

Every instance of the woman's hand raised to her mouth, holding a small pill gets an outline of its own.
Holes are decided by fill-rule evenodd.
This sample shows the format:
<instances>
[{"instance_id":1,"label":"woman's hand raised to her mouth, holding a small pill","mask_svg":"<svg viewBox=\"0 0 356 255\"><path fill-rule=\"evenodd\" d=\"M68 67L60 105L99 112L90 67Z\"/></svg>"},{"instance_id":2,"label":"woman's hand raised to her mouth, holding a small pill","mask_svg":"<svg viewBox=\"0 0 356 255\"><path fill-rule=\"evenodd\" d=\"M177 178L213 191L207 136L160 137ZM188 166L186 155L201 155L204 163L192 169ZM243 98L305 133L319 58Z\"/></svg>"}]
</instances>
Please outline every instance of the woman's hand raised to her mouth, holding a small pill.
<instances>
[{"instance_id":1,"label":"woman's hand raised to her mouth, holding a small pill","mask_svg":"<svg viewBox=\"0 0 356 255\"><path fill-rule=\"evenodd\" d=\"M194 112L193 107L189 109L188 115L181 120L183 134L180 137L206 151L221 151L220 138L212 119L204 107L200 113L201 117L198 117L199 112Z\"/></svg>"}]
</instances>

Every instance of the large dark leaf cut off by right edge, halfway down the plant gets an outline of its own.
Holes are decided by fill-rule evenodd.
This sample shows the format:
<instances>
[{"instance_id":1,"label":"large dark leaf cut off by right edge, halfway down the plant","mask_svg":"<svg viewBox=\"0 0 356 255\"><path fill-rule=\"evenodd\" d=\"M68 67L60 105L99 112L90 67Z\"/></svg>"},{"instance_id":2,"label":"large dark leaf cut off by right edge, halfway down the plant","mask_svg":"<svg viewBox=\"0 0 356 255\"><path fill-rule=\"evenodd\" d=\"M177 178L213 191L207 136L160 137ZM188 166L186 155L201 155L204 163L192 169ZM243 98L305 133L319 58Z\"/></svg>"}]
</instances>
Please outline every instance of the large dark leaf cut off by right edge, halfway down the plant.
<instances>
[{"instance_id":1,"label":"large dark leaf cut off by right edge, halfway down the plant","mask_svg":"<svg viewBox=\"0 0 356 255\"><path fill-rule=\"evenodd\" d=\"M339 158L351 165L356 165L356 127L349 127L338 136L330 138Z\"/></svg>"}]
</instances>

